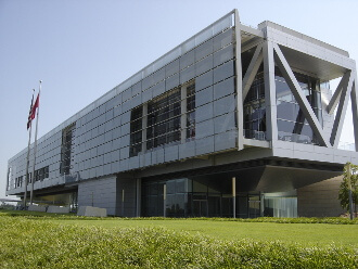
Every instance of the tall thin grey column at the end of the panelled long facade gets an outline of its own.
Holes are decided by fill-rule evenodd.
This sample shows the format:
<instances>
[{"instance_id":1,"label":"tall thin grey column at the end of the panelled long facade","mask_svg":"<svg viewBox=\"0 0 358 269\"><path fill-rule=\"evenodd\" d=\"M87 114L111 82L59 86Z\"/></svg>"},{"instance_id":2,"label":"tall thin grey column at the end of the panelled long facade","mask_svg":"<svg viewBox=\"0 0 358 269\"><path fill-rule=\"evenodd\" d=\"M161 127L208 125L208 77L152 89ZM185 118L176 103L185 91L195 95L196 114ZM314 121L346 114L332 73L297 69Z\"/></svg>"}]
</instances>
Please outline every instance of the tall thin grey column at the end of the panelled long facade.
<instances>
[{"instance_id":1,"label":"tall thin grey column at the end of the panelled long facade","mask_svg":"<svg viewBox=\"0 0 358 269\"><path fill-rule=\"evenodd\" d=\"M235 22L235 77L236 77L236 117L238 117L238 150L244 149L244 116L242 100L242 65L241 65L241 23L239 11L234 10Z\"/></svg>"}]
</instances>

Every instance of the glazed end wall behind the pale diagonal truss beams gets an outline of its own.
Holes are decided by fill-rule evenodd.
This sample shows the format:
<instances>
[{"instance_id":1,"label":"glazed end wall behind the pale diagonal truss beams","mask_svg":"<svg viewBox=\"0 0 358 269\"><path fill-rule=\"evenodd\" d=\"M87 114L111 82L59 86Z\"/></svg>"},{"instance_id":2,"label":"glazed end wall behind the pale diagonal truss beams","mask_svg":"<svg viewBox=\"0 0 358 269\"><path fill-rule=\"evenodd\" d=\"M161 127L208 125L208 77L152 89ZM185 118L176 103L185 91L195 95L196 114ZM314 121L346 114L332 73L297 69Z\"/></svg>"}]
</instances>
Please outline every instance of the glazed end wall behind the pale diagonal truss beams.
<instances>
[{"instance_id":1,"label":"glazed end wall behind the pale diagonal truss beams","mask_svg":"<svg viewBox=\"0 0 358 269\"><path fill-rule=\"evenodd\" d=\"M247 69L253 50L243 53L243 71ZM294 73L304 94L311 105L319 123L323 125L320 81L307 75ZM278 67L274 68L278 139L296 143L319 144L299 108L289 85ZM323 126L322 126L323 127ZM266 104L264 64L255 76L244 100L244 137L266 140Z\"/></svg>"}]
</instances>

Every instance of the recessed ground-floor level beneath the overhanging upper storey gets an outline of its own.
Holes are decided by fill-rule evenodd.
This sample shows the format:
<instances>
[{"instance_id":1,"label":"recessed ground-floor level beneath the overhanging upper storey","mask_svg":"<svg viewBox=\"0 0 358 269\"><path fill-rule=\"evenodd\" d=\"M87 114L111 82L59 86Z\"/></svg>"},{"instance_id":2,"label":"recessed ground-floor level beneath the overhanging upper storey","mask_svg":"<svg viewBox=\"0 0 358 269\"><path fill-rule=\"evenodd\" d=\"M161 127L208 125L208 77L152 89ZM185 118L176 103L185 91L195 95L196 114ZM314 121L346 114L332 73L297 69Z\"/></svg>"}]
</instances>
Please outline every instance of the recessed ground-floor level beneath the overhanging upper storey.
<instances>
[{"instance_id":1,"label":"recessed ground-floor level beneath the overhanging upper storey","mask_svg":"<svg viewBox=\"0 0 358 269\"><path fill-rule=\"evenodd\" d=\"M317 177L330 171L248 165L151 177L118 174L80 181L78 206L106 208L108 215L123 217L320 217L343 213L337 200L341 179L317 182ZM293 174L296 178L291 184L283 184ZM307 175L317 183L307 185ZM298 183L306 187L293 185Z\"/></svg>"}]
</instances>

